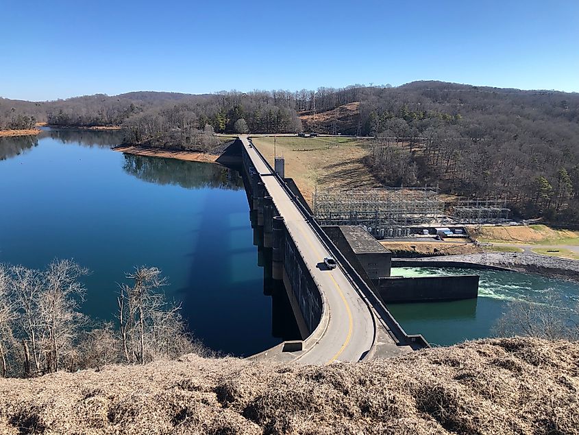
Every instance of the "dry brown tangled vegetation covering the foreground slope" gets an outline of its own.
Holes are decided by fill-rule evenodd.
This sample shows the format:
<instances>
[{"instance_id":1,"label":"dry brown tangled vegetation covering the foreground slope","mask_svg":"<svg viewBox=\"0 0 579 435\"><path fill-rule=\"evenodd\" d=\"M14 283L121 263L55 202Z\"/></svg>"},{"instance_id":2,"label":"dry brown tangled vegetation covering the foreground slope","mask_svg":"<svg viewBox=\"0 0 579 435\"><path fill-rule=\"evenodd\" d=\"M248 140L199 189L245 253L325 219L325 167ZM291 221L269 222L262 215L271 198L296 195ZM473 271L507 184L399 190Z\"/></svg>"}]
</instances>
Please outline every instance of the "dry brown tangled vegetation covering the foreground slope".
<instances>
[{"instance_id":1,"label":"dry brown tangled vegetation covering the foreground slope","mask_svg":"<svg viewBox=\"0 0 579 435\"><path fill-rule=\"evenodd\" d=\"M467 342L359 364L176 362L0 380L1 434L579 434L579 344Z\"/></svg>"}]
</instances>

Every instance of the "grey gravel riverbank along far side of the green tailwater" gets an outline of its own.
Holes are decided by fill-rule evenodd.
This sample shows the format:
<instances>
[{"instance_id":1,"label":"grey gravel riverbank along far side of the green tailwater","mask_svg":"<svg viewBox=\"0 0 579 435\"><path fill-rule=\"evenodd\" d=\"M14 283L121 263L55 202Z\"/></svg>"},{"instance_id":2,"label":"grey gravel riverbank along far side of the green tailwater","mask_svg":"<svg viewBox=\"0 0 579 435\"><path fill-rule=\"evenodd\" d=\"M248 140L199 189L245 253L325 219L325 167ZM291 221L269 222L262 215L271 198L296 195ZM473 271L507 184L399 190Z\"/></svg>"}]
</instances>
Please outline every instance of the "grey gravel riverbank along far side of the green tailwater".
<instances>
[{"instance_id":1,"label":"grey gravel riverbank along far side of the green tailwater","mask_svg":"<svg viewBox=\"0 0 579 435\"><path fill-rule=\"evenodd\" d=\"M399 259L405 261L405 259ZM437 257L423 257L411 259L413 263L436 263L436 266L444 266L444 263L475 263L486 266L498 266L516 270L517 272L532 272L546 277L571 279L579 282L579 261L546 255L529 254L526 252L485 252L482 254L445 255ZM468 267L465 265L465 267Z\"/></svg>"}]
</instances>

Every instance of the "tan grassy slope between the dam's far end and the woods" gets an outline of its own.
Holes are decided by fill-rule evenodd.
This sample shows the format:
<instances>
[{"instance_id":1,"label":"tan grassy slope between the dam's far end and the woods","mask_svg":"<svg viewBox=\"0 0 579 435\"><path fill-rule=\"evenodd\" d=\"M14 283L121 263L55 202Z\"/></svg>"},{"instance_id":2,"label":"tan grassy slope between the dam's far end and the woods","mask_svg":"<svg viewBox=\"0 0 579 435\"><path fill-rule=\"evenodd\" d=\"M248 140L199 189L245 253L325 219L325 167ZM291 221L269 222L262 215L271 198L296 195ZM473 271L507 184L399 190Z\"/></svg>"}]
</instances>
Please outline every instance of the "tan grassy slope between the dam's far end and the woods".
<instances>
[{"instance_id":1,"label":"tan grassy slope between the dam's far end and the woods","mask_svg":"<svg viewBox=\"0 0 579 435\"><path fill-rule=\"evenodd\" d=\"M273 137L252 138L256 147L273 165ZM286 161L286 177L291 177L312 204L312 193L320 188L353 189L380 187L362 163L367 141L351 137L278 137L276 152Z\"/></svg>"}]
</instances>

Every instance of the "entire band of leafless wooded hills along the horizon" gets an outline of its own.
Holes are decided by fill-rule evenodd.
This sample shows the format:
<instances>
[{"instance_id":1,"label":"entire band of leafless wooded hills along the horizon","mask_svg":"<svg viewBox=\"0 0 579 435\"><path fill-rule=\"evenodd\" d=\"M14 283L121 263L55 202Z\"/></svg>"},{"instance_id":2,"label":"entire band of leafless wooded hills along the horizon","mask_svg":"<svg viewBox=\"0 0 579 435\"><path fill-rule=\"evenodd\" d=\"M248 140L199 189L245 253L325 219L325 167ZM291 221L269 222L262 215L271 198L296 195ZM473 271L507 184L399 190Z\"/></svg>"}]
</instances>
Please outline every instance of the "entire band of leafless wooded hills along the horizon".
<instances>
[{"instance_id":1,"label":"entire band of leafless wooded hills along the horizon","mask_svg":"<svg viewBox=\"0 0 579 435\"><path fill-rule=\"evenodd\" d=\"M523 215L579 221L579 94L446 82L317 91L134 92L55 102L0 99L0 129L123 126L125 141L206 150L213 132L371 136L385 185L439 184Z\"/></svg>"}]
</instances>

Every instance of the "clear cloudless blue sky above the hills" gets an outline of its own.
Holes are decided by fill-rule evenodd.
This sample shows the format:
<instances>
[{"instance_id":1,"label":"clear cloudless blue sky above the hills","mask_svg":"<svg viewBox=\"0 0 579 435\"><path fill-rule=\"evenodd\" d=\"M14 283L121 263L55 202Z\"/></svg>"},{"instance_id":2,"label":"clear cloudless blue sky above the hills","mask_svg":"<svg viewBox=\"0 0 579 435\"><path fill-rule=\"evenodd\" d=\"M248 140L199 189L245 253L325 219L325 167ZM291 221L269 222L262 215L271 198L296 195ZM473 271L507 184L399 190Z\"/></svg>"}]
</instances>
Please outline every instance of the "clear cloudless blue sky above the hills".
<instances>
[{"instance_id":1,"label":"clear cloudless blue sky above the hills","mask_svg":"<svg viewBox=\"0 0 579 435\"><path fill-rule=\"evenodd\" d=\"M413 80L579 91L578 0L1 0L0 96Z\"/></svg>"}]
</instances>

